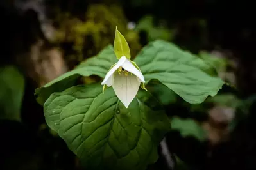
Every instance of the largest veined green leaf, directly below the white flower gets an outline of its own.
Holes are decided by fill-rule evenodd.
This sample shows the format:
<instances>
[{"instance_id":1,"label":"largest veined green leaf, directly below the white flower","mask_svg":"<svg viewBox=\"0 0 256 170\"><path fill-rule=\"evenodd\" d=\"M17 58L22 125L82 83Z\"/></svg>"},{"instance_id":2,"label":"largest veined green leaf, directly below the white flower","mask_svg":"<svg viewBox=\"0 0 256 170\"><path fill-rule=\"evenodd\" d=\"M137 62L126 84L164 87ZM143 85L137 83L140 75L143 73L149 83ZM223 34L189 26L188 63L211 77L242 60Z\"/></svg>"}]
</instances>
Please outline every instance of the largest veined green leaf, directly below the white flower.
<instances>
[{"instance_id":1,"label":"largest veined green leaf, directly below the white flower","mask_svg":"<svg viewBox=\"0 0 256 170\"><path fill-rule=\"evenodd\" d=\"M146 169L170 130L162 111L135 98L128 109L112 88L74 86L53 93L44 104L49 127L58 132L88 169Z\"/></svg>"}]
</instances>

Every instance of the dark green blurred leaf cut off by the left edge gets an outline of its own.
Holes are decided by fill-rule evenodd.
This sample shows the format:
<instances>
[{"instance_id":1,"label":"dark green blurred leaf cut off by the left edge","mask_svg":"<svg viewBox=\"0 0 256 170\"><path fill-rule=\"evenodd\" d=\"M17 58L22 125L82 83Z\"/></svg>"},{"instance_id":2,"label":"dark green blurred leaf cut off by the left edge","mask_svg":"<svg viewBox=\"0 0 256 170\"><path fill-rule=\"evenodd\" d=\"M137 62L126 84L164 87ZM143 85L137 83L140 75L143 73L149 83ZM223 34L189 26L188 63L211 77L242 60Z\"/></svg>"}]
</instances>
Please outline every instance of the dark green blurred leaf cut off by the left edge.
<instances>
[{"instance_id":1,"label":"dark green blurred leaf cut off by the left edge","mask_svg":"<svg viewBox=\"0 0 256 170\"><path fill-rule=\"evenodd\" d=\"M14 66L0 68L0 119L21 121L24 77Z\"/></svg>"}]
</instances>

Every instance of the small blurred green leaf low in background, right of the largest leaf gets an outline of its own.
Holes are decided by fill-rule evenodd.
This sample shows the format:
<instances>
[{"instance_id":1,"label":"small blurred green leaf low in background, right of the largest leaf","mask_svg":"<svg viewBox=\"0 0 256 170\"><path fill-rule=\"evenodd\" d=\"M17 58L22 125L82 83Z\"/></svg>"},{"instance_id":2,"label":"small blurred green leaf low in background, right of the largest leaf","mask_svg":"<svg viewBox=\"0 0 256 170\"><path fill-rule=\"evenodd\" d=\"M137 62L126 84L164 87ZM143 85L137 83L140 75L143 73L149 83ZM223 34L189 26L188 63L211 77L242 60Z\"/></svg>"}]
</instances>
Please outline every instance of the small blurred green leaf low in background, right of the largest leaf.
<instances>
[{"instance_id":1,"label":"small blurred green leaf low in background, right of the largest leaf","mask_svg":"<svg viewBox=\"0 0 256 170\"><path fill-rule=\"evenodd\" d=\"M173 117L171 118L171 128L172 130L178 130L183 137L192 136L199 141L204 141L207 138L205 130L191 118L181 119Z\"/></svg>"}]
</instances>

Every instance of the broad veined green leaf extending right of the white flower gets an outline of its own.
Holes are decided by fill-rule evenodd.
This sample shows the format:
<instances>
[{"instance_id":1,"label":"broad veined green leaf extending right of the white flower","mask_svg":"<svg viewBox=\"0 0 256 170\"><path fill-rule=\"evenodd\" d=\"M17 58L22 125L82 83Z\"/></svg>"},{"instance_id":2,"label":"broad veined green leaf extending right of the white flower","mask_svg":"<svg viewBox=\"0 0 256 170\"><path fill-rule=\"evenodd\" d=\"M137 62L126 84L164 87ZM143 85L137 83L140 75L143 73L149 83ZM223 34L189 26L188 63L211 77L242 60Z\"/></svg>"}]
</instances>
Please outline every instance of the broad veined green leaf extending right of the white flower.
<instances>
[{"instance_id":1,"label":"broad veined green leaf extending right of the white flower","mask_svg":"<svg viewBox=\"0 0 256 170\"><path fill-rule=\"evenodd\" d=\"M223 86L214 68L197 56L162 40L149 43L135 58L146 83L158 79L191 104L200 104ZM210 75L211 74L211 75Z\"/></svg>"}]
</instances>

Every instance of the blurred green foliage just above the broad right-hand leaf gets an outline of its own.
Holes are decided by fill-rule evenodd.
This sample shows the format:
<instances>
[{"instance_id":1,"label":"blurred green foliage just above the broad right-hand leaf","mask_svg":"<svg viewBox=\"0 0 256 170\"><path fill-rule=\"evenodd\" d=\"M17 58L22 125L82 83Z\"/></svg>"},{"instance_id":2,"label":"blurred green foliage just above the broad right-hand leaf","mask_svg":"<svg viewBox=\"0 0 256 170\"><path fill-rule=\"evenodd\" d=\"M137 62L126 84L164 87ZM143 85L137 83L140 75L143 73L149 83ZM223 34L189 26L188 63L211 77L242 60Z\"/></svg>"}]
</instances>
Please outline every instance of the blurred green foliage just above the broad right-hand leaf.
<instances>
[{"instance_id":1,"label":"blurred green foliage just above the broad right-hand leaf","mask_svg":"<svg viewBox=\"0 0 256 170\"><path fill-rule=\"evenodd\" d=\"M169 29L165 23L166 20L161 20L158 24L155 24L154 17L146 15L139 20L135 30L146 31L149 42L157 39L171 41L174 31Z\"/></svg>"}]
</instances>

